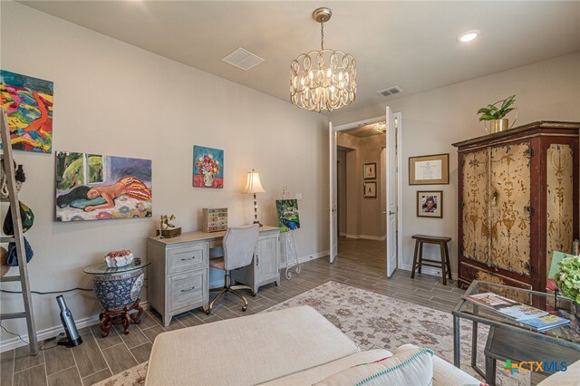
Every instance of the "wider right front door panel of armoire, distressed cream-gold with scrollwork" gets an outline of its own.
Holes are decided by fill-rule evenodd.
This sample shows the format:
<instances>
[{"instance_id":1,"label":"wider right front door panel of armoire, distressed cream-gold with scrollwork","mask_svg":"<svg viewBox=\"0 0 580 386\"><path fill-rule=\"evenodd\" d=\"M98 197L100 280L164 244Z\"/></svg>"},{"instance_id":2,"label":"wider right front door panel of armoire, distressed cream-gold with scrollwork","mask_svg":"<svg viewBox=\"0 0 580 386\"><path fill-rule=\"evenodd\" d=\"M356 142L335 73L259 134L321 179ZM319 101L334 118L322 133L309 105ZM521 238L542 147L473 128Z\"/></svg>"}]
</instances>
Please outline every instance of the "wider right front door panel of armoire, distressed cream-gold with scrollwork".
<instances>
[{"instance_id":1,"label":"wider right front door panel of armoire, distressed cream-gold with scrollwork","mask_svg":"<svg viewBox=\"0 0 580 386\"><path fill-rule=\"evenodd\" d=\"M529 141L494 146L490 151L489 212L491 266L530 275Z\"/></svg>"}]
</instances>

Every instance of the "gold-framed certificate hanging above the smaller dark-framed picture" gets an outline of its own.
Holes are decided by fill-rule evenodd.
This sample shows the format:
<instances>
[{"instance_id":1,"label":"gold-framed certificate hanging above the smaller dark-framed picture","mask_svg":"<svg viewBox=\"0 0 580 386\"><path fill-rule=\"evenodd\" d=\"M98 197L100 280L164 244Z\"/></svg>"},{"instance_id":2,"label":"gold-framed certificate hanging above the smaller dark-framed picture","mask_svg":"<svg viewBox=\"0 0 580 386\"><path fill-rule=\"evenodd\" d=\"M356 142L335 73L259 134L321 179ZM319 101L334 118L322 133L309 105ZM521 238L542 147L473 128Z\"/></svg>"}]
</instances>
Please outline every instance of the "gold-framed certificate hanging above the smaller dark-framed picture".
<instances>
[{"instance_id":1,"label":"gold-framed certificate hanging above the smaller dark-framed picture","mask_svg":"<svg viewBox=\"0 0 580 386\"><path fill-rule=\"evenodd\" d=\"M409 158L409 185L449 184L449 153Z\"/></svg>"}]
</instances>

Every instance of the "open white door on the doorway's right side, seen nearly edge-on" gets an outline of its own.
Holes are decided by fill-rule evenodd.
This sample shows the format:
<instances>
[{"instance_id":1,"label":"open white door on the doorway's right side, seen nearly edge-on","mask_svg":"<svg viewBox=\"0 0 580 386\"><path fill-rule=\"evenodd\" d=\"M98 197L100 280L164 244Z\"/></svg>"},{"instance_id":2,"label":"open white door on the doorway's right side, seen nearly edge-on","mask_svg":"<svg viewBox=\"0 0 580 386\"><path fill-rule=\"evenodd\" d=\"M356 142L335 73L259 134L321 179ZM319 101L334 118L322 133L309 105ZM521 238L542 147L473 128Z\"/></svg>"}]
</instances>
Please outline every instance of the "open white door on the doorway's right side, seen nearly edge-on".
<instances>
[{"instance_id":1,"label":"open white door on the doorway's right side, seen nearly edge-on","mask_svg":"<svg viewBox=\"0 0 580 386\"><path fill-rule=\"evenodd\" d=\"M395 127L395 115L387 106L387 133L385 135L385 149L387 150L387 167L384 179L387 181L386 203L386 237L387 251L387 277L391 277L397 268L397 128Z\"/></svg>"}]
</instances>

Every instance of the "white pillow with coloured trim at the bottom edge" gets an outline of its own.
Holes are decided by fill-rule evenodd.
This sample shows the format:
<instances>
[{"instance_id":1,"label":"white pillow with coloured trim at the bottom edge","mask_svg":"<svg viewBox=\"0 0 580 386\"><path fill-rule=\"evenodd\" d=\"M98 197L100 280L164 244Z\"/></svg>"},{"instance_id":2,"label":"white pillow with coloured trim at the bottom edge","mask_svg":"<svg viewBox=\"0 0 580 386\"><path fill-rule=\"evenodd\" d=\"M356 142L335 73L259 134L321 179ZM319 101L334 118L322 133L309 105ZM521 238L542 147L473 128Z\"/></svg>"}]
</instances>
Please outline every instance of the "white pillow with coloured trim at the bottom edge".
<instances>
[{"instance_id":1,"label":"white pillow with coloured trim at the bottom edge","mask_svg":"<svg viewBox=\"0 0 580 386\"><path fill-rule=\"evenodd\" d=\"M316 385L430 385L433 355L430 349L404 344L389 358L350 367Z\"/></svg>"}]
</instances>

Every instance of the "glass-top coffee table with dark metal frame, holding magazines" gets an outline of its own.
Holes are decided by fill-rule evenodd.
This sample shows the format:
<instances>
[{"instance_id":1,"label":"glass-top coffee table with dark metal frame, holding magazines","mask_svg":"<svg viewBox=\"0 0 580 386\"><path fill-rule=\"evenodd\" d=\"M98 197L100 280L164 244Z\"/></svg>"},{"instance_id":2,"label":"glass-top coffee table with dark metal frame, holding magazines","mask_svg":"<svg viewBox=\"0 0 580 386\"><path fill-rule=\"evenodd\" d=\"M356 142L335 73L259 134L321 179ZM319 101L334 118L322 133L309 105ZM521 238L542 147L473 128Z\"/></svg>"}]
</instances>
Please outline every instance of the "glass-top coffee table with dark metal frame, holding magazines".
<instances>
[{"instance_id":1,"label":"glass-top coffee table with dark metal frame, holding magazines","mask_svg":"<svg viewBox=\"0 0 580 386\"><path fill-rule=\"evenodd\" d=\"M506 315L488 307L481 306L469 301L470 294L494 293L516 300L522 304L529 304L536 308L547 311L550 314L563 317L570 321L568 325L556 327L543 332L538 332L533 327L519 323ZM463 295L459 303L453 309L453 364L459 368L460 364L460 342L459 342L459 320L468 319L473 322L473 338L471 342L471 367L485 377L485 372L478 369L477 342L478 323L488 324L492 328L501 329L507 333L520 334L521 339L527 342L536 342L537 352L541 352L544 346L560 346L565 349L580 352L580 321L574 315L573 302L562 296L555 294L545 294L523 288L511 287L507 285L496 285L488 282L474 280L469 285L468 290Z\"/></svg>"}]
</instances>

